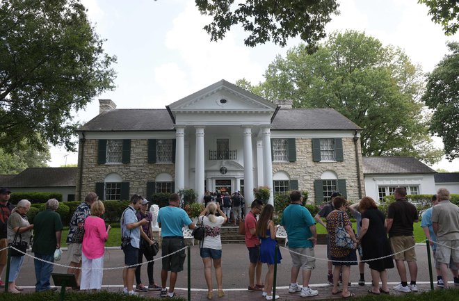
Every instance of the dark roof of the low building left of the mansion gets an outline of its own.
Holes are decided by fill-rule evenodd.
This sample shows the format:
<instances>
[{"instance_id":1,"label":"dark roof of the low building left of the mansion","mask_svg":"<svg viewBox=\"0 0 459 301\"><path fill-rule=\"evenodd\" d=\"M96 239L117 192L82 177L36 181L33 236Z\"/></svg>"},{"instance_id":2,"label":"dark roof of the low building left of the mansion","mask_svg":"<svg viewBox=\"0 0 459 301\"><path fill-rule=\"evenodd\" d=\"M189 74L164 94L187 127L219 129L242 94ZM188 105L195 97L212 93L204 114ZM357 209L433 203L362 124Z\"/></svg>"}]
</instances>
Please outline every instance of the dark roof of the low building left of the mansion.
<instances>
[{"instance_id":1,"label":"dark roof of the low building left of the mansion","mask_svg":"<svg viewBox=\"0 0 459 301\"><path fill-rule=\"evenodd\" d=\"M8 188L77 186L78 168L27 168L5 182Z\"/></svg>"}]
</instances>

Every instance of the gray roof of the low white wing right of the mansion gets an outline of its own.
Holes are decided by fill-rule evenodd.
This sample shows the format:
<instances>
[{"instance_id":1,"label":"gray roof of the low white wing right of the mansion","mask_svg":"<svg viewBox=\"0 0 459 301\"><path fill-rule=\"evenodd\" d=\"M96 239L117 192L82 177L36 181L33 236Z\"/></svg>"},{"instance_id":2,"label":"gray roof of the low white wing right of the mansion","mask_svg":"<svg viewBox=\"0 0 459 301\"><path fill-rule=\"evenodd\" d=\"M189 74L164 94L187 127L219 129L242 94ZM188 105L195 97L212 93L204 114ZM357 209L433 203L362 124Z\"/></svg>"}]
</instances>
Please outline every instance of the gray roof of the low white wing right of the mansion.
<instances>
[{"instance_id":1,"label":"gray roof of the low white wing right of the mansion","mask_svg":"<svg viewBox=\"0 0 459 301\"><path fill-rule=\"evenodd\" d=\"M435 170L412 156L363 157L364 174L433 174Z\"/></svg>"}]
</instances>

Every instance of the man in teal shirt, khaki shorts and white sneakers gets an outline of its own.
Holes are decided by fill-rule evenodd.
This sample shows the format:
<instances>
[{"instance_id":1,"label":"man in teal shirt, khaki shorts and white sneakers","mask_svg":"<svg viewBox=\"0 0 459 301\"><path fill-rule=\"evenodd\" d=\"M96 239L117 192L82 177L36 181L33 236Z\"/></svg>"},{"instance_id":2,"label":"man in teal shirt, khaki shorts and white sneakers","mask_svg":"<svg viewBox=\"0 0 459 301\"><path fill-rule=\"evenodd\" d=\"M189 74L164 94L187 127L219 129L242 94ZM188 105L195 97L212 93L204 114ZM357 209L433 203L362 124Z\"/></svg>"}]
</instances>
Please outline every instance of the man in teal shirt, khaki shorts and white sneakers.
<instances>
[{"instance_id":1,"label":"man in teal shirt, khaki shorts and white sneakers","mask_svg":"<svg viewBox=\"0 0 459 301\"><path fill-rule=\"evenodd\" d=\"M316 221L303 206L303 195L300 191L293 190L290 193L290 204L282 213L281 224L287 231L289 250L295 252L290 252L293 266L289 293L301 291L301 297L319 295L319 291L309 288L311 272L316 267L316 259L314 259L314 246L317 242ZM303 269L303 288L296 283L300 268Z\"/></svg>"}]
</instances>

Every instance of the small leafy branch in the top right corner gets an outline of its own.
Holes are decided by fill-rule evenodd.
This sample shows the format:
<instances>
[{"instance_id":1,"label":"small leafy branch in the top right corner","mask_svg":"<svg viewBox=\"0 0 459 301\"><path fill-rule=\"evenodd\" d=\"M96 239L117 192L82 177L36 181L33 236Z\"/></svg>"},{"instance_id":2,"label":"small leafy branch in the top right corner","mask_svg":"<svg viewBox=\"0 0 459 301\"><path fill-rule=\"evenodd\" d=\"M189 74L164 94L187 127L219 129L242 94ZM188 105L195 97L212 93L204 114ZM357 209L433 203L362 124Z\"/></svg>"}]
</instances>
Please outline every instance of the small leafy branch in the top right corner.
<instances>
[{"instance_id":1,"label":"small leafy branch in the top right corner","mask_svg":"<svg viewBox=\"0 0 459 301\"><path fill-rule=\"evenodd\" d=\"M418 0L429 8L432 21L440 24L446 35L453 35L459 29L459 1Z\"/></svg>"}]
</instances>

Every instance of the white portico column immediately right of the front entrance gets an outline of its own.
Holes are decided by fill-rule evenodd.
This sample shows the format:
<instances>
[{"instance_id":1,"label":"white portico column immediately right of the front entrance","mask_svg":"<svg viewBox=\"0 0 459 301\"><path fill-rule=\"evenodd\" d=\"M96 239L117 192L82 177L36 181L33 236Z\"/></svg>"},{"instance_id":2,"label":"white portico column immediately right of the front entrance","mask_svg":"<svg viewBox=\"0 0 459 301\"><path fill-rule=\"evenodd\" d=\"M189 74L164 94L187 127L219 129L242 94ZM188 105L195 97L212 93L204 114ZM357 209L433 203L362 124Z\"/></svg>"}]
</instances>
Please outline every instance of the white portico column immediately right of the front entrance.
<instances>
[{"instance_id":1,"label":"white portico column immediately right of the front entrance","mask_svg":"<svg viewBox=\"0 0 459 301\"><path fill-rule=\"evenodd\" d=\"M253 158L252 158L252 128L243 127L244 144L244 198L245 212L250 210L250 205L254 200L253 195Z\"/></svg>"}]
</instances>

